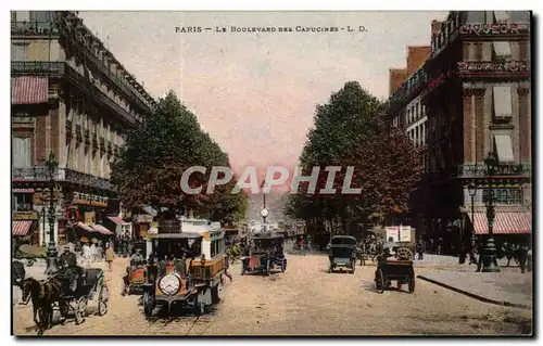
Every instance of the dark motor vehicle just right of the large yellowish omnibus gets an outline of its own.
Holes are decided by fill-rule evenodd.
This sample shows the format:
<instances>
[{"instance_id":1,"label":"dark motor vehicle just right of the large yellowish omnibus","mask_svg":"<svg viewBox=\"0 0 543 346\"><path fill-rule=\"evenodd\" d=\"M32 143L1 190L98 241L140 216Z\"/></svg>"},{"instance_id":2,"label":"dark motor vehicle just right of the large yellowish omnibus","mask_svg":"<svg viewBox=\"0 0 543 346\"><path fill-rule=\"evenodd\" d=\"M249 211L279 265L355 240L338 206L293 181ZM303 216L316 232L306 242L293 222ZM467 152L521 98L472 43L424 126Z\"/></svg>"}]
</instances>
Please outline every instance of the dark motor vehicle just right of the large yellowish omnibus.
<instances>
[{"instance_id":1,"label":"dark motor vehicle just right of the large yellowish omnibus","mask_svg":"<svg viewBox=\"0 0 543 346\"><path fill-rule=\"evenodd\" d=\"M275 232L256 232L250 239L250 249L241 258L241 274L265 273L287 270L283 253L283 236Z\"/></svg>"}]
</instances>

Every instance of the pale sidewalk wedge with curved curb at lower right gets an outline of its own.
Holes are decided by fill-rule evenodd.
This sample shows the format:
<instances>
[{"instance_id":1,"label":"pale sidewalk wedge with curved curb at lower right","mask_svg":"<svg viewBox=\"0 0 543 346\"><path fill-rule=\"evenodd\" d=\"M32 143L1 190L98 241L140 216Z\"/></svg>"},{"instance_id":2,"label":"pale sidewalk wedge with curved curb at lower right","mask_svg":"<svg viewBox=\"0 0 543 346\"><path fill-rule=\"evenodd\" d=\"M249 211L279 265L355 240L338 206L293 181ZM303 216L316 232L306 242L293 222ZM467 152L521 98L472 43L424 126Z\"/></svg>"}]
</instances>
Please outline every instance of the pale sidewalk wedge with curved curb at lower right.
<instances>
[{"instance_id":1,"label":"pale sidewalk wedge with curved curb at lower right","mask_svg":"<svg viewBox=\"0 0 543 346\"><path fill-rule=\"evenodd\" d=\"M435 271L417 278L479 300L518 308L532 308L532 274L512 271Z\"/></svg>"}]
</instances>

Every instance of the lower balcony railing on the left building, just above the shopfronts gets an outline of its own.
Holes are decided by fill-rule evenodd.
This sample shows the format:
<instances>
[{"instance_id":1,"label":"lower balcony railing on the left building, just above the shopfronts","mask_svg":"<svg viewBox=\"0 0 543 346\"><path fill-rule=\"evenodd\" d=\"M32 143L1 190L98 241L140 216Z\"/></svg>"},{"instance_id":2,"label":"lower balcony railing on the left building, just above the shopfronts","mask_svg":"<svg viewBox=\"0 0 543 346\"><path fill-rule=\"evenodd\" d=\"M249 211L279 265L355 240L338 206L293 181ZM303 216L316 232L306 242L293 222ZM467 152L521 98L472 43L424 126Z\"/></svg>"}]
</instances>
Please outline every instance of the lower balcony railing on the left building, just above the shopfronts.
<instances>
[{"instance_id":1,"label":"lower balcony railing on the left building, just above the shopfronts","mask_svg":"<svg viewBox=\"0 0 543 346\"><path fill-rule=\"evenodd\" d=\"M12 167L12 181L49 181L49 171L47 167L35 166L28 168L14 168ZM114 191L115 187L110 183L108 179L94 177L91 175L83 174L72 169L60 168L55 181L66 181L71 183L78 183L86 187Z\"/></svg>"}]
</instances>

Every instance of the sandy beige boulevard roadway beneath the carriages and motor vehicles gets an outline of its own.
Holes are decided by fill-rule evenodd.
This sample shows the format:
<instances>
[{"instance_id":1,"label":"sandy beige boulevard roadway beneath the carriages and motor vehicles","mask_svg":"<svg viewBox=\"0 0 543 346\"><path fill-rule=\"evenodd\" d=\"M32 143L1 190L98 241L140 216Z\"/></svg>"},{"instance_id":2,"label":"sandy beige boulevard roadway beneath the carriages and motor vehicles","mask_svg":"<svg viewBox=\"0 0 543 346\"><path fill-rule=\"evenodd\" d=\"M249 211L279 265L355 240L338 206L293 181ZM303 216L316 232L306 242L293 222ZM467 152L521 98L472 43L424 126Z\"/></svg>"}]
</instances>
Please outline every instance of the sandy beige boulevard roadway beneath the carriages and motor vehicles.
<instances>
[{"instance_id":1,"label":"sandy beige boulevard roadway beneath the carriages and motor vehicles","mask_svg":"<svg viewBox=\"0 0 543 346\"><path fill-rule=\"evenodd\" d=\"M223 302L204 317L179 316L146 320L138 296L119 295L126 259L106 272L110 311L89 316L75 325L54 325L45 335L420 335L526 334L531 310L506 308L417 280L409 294L395 289L374 291L375 266L356 267L354 274L328 273L324 254L288 255L287 272L272 277L240 275ZM416 274L431 271L416 268ZM405 290L405 289L404 289ZM89 311L92 312L89 306ZM36 335L29 306L14 307L14 333Z\"/></svg>"}]
</instances>

